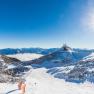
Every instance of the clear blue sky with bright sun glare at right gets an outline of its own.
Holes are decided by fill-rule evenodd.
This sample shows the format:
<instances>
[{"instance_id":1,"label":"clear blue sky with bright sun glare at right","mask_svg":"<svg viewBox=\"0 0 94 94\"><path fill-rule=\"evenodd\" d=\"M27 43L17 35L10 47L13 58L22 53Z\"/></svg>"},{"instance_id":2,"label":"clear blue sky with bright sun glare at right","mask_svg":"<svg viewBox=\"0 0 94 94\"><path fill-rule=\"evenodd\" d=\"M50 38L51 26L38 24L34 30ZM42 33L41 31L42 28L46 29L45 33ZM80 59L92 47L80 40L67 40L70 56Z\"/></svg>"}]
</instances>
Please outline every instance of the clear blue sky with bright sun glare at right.
<instances>
[{"instance_id":1,"label":"clear blue sky with bright sun glare at right","mask_svg":"<svg viewBox=\"0 0 94 94\"><path fill-rule=\"evenodd\" d=\"M0 48L94 48L94 0L0 0Z\"/></svg>"}]
</instances>

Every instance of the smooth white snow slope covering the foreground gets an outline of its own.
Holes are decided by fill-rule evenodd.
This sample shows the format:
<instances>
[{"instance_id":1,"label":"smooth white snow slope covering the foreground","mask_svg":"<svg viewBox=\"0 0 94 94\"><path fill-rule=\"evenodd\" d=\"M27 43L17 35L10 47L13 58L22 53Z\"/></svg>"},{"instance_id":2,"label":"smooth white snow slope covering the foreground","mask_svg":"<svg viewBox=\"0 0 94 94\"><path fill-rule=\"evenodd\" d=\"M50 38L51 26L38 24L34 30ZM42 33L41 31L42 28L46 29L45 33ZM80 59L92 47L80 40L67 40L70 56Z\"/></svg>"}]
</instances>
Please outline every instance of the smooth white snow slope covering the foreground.
<instances>
[{"instance_id":1,"label":"smooth white snow slope covering the foreground","mask_svg":"<svg viewBox=\"0 0 94 94\"><path fill-rule=\"evenodd\" d=\"M94 84L76 84L54 78L47 69L32 69L26 77L26 94L94 94ZM0 83L0 94L19 94L17 84Z\"/></svg>"}]
</instances>

